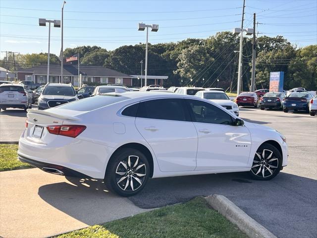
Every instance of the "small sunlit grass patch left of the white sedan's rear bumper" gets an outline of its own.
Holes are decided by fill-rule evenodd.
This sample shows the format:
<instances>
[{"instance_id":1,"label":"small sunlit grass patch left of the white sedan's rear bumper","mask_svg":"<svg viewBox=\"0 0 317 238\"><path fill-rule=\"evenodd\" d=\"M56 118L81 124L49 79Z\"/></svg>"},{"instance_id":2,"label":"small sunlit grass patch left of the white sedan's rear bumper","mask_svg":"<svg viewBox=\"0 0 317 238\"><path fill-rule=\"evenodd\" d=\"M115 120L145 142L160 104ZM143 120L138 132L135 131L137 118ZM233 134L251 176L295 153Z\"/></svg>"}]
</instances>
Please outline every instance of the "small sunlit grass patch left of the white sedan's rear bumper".
<instances>
[{"instance_id":1,"label":"small sunlit grass patch left of the white sedan's rear bumper","mask_svg":"<svg viewBox=\"0 0 317 238\"><path fill-rule=\"evenodd\" d=\"M0 171L33 168L17 159L17 151L18 145L0 144Z\"/></svg>"}]
</instances>

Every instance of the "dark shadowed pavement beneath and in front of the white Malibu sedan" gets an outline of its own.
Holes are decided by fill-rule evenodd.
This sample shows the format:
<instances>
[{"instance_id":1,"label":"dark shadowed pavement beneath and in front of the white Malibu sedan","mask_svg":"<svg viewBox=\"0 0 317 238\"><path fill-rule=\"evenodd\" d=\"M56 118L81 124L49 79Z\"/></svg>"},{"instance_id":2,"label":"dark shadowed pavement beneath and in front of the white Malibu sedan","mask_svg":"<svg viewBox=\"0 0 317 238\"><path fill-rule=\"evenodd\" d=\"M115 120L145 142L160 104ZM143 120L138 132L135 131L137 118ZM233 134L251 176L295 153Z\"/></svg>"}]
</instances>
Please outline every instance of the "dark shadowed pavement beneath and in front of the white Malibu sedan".
<instances>
[{"instance_id":1,"label":"dark shadowed pavement beneath and in front of the white Malibu sedan","mask_svg":"<svg viewBox=\"0 0 317 238\"><path fill-rule=\"evenodd\" d=\"M38 194L56 209L89 225L96 224L91 217L115 214L120 209L120 199L124 198L108 192L102 179L67 180L70 183L41 186ZM129 199L140 208L156 208L210 194L228 197L277 237L317 234L311 225L317 222L317 180L286 173L269 181L251 180L247 173L150 179L144 190Z\"/></svg>"}]
</instances>

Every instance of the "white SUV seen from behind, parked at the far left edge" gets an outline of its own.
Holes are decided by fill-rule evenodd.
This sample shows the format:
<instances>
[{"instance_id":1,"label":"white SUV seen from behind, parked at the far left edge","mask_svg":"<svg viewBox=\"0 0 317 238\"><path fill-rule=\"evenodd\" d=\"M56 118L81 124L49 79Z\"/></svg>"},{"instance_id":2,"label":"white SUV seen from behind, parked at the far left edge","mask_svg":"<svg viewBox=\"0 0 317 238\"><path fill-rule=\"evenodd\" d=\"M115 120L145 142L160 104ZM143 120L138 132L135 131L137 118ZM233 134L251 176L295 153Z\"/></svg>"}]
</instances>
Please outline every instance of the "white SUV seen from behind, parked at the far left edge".
<instances>
[{"instance_id":1,"label":"white SUV seen from behind, parked at the far left edge","mask_svg":"<svg viewBox=\"0 0 317 238\"><path fill-rule=\"evenodd\" d=\"M32 94L21 84L0 85L0 111L6 108L22 108L25 111L32 107Z\"/></svg>"}]
</instances>

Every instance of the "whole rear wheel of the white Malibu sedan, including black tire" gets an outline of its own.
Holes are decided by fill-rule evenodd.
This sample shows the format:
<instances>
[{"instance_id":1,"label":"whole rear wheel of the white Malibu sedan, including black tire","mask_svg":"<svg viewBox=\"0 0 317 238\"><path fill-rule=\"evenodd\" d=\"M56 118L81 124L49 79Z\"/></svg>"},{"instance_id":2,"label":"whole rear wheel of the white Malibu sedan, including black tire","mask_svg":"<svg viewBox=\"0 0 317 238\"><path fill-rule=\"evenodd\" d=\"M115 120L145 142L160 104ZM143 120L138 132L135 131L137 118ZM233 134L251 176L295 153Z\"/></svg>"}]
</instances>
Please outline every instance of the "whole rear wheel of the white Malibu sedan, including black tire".
<instances>
[{"instance_id":1,"label":"whole rear wheel of the white Malibu sedan, including black tire","mask_svg":"<svg viewBox=\"0 0 317 238\"><path fill-rule=\"evenodd\" d=\"M138 173L135 173L136 169ZM128 197L140 192L149 177L150 164L145 155L139 150L124 148L112 155L106 169L105 183L110 191Z\"/></svg>"}]
</instances>

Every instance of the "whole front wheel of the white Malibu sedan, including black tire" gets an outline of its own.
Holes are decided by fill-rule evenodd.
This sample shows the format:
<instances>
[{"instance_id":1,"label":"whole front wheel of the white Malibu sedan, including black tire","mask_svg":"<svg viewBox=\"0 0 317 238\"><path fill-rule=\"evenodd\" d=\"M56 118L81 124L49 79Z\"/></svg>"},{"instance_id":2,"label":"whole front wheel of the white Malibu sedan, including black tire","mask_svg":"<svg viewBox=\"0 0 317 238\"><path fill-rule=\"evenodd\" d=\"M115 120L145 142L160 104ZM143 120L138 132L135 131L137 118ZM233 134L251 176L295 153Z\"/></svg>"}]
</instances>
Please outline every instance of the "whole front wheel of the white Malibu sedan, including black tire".
<instances>
[{"instance_id":1,"label":"whole front wheel of the white Malibu sedan, including black tire","mask_svg":"<svg viewBox=\"0 0 317 238\"><path fill-rule=\"evenodd\" d=\"M264 152L264 156L263 156ZM252 179L273 179L282 168L282 155L275 146L264 143L254 155L252 168L249 172Z\"/></svg>"}]
</instances>

